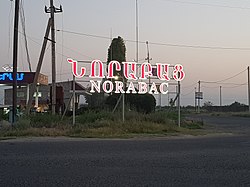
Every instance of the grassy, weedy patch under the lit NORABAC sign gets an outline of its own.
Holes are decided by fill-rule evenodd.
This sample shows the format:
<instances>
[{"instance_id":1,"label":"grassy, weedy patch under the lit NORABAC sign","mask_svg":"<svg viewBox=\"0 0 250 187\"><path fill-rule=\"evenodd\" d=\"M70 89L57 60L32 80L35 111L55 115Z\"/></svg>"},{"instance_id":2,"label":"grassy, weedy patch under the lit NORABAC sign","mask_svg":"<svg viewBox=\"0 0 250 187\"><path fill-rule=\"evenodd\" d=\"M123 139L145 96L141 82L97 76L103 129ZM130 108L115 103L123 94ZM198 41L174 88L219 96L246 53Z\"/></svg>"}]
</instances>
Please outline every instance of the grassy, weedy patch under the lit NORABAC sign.
<instances>
[{"instance_id":1,"label":"grassy, weedy patch under the lit NORABAC sign","mask_svg":"<svg viewBox=\"0 0 250 187\"><path fill-rule=\"evenodd\" d=\"M72 126L72 117L49 114L23 116L15 124L0 125L0 137L20 136L70 136L89 138L135 137L135 136L167 136L191 134L201 129L202 124L183 120L182 128L176 125L177 115L164 111L151 114L127 112L125 122L120 113L107 111L88 111L76 116L76 125ZM2 123L1 123L2 124Z\"/></svg>"}]
</instances>

